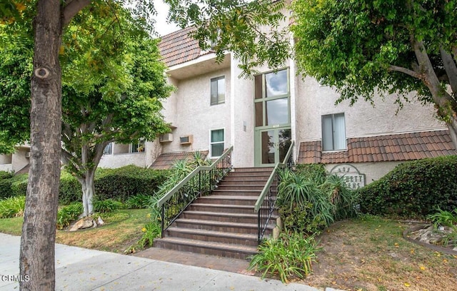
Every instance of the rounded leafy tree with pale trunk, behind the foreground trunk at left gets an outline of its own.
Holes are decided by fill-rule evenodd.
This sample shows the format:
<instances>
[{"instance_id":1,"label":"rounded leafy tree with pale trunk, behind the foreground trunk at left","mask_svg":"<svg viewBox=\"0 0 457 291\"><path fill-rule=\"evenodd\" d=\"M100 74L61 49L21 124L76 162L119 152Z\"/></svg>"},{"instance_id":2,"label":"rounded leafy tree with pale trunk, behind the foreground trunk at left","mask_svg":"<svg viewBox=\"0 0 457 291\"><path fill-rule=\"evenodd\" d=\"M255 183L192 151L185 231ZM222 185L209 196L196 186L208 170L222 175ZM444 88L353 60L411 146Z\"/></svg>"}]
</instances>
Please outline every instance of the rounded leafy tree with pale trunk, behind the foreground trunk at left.
<instances>
[{"instance_id":1,"label":"rounded leafy tree with pale trunk, behind the foreground trunk at left","mask_svg":"<svg viewBox=\"0 0 457 291\"><path fill-rule=\"evenodd\" d=\"M160 111L171 86L156 43L116 4L84 9L66 29L60 49L61 160L81 183L84 216L93 210L94 174L104 148L151 141L168 131ZM28 51L0 48L0 144L29 139Z\"/></svg>"}]
</instances>

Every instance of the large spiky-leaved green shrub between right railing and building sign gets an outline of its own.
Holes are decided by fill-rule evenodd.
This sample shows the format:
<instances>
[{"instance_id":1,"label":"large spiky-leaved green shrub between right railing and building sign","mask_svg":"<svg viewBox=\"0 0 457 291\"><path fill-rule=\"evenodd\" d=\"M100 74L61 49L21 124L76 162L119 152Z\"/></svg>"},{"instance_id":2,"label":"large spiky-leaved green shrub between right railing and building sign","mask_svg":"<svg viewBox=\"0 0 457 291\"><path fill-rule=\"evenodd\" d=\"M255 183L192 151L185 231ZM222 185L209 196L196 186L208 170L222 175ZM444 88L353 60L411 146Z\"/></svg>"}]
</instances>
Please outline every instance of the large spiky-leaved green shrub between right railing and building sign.
<instances>
[{"instance_id":1,"label":"large spiky-leaved green shrub between right railing and building sign","mask_svg":"<svg viewBox=\"0 0 457 291\"><path fill-rule=\"evenodd\" d=\"M356 215L358 193L343 178L326 175L323 165L298 165L280 173L278 207L286 227L319 233L335 220Z\"/></svg>"}]
</instances>

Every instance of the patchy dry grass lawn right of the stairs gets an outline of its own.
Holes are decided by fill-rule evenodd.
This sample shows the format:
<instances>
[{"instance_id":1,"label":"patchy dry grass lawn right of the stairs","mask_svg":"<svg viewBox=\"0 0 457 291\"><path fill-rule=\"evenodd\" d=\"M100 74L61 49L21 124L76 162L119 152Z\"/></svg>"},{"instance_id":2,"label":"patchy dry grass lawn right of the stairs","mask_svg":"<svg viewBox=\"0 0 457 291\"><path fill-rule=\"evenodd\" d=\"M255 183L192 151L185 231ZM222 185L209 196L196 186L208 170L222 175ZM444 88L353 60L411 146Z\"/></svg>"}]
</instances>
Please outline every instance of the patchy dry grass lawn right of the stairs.
<instances>
[{"instance_id":1,"label":"patchy dry grass lawn right of the stairs","mask_svg":"<svg viewBox=\"0 0 457 291\"><path fill-rule=\"evenodd\" d=\"M407 228L411 223L380 218L332 225L303 282L343 290L456 290L456 257L404 240Z\"/></svg>"}]
</instances>

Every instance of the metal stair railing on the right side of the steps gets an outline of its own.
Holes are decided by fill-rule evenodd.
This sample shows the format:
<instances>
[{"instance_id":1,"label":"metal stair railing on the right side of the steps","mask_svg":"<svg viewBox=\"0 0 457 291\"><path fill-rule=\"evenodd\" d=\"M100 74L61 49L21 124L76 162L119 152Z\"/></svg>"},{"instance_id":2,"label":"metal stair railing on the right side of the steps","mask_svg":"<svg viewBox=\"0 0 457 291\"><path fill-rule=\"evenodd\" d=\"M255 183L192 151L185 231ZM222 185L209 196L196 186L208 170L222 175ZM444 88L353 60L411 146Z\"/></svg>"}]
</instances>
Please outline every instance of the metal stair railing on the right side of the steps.
<instances>
[{"instance_id":1,"label":"metal stair railing on the right side of the steps","mask_svg":"<svg viewBox=\"0 0 457 291\"><path fill-rule=\"evenodd\" d=\"M279 179L279 169L290 167L292 165L292 148L293 141L288 148L287 154L282 163L276 163L271 172L270 178L265 184L261 194L258 196L254 211L257 213L257 240L260 244L263 235L265 235L271 215L274 212L276 198L278 197L278 186L281 182Z\"/></svg>"}]
</instances>

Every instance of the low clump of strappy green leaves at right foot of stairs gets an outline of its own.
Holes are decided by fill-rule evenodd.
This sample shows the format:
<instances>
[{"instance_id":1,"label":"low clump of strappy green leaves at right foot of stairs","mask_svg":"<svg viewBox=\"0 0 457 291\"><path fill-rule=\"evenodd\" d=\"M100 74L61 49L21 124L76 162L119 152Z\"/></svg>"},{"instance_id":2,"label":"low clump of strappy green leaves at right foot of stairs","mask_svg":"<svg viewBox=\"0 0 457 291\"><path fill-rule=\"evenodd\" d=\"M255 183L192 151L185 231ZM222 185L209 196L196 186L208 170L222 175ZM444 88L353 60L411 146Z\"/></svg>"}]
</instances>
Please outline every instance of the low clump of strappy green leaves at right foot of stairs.
<instances>
[{"instance_id":1,"label":"low clump of strappy green leaves at right foot of stairs","mask_svg":"<svg viewBox=\"0 0 457 291\"><path fill-rule=\"evenodd\" d=\"M259 245L248 270L256 268L266 275L279 276L286 283L293 277L303 279L311 273L311 263L316 261L316 241L303 238L300 233L281 233L277 240L270 239Z\"/></svg>"}]
</instances>

